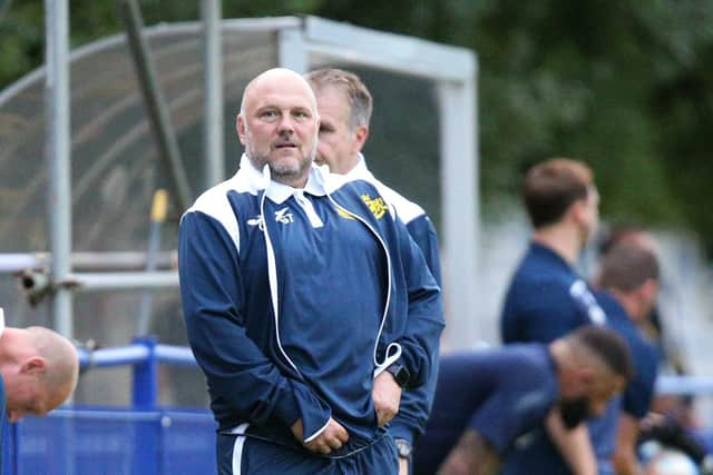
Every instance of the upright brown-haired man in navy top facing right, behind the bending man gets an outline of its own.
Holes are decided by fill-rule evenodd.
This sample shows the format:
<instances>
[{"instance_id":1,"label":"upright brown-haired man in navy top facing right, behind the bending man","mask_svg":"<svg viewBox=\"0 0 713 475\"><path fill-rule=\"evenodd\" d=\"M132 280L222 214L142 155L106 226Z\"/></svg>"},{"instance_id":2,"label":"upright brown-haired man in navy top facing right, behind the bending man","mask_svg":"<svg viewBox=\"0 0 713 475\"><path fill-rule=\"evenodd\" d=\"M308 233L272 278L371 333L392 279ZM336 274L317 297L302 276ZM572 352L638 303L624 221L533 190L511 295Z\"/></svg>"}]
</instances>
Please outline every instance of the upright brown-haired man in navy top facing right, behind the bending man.
<instances>
[{"instance_id":1,"label":"upright brown-haired man in navy top facing right, behind the bending man","mask_svg":"<svg viewBox=\"0 0 713 475\"><path fill-rule=\"evenodd\" d=\"M506 294L500 319L502 342L549 343L582 325L605 324L606 315L574 270L598 224L599 195L592 170L565 158L540 162L525 177L522 199L534 232ZM568 412L575 409L574 405L567 407ZM580 424L565 433L558 420L551 416L547 426L553 434L566 434L570 442L564 449L576 447L565 455L567 461L578 475L595 474L586 426Z\"/></svg>"}]
</instances>

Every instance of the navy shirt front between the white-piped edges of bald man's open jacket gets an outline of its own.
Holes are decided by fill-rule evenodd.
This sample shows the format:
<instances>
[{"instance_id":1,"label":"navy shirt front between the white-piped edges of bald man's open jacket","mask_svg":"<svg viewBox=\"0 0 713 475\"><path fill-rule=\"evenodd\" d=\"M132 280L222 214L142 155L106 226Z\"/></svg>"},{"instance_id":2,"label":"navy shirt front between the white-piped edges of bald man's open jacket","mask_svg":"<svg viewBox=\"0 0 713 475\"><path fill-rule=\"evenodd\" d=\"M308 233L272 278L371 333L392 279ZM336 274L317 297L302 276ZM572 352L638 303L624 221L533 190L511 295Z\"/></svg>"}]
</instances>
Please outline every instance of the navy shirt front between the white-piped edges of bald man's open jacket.
<instances>
[{"instance_id":1,"label":"navy shirt front between the white-piped edges of bald man's open jacket","mask_svg":"<svg viewBox=\"0 0 713 475\"><path fill-rule=\"evenodd\" d=\"M310 225L294 197L265 202L267 216L285 219L273 235L275 247L285 249L281 264L300 269L284 274L282 345L320 396L339 402L333 409L340 422L369 438L364 422L374 414L373 360L364 355L372 354L381 325L387 288L373 283L388 280L387 259L362 222L338 215L326 197L305 198L321 220L318 226Z\"/></svg>"}]
</instances>

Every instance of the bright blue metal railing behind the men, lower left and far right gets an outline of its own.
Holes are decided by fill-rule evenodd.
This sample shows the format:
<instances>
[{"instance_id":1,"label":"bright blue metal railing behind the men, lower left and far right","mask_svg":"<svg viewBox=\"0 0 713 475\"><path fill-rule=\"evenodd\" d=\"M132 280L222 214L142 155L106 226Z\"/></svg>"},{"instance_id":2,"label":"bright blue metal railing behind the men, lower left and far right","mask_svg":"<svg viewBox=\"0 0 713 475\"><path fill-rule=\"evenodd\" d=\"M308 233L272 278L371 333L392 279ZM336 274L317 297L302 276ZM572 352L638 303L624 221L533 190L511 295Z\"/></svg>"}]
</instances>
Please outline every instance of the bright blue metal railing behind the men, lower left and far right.
<instances>
[{"instance_id":1,"label":"bright blue metal railing behind the men, lower left and far right","mask_svg":"<svg viewBox=\"0 0 713 475\"><path fill-rule=\"evenodd\" d=\"M120 347L79 349L79 362L85 370L130 365L133 406L65 407L47 418L14 424L3 447L8 475L215 473L209 413L168 410L158 404L158 366L196 366L189 348L137 338ZM660 376L656 388L658 394L711 395L713 377Z\"/></svg>"}]
</instances>

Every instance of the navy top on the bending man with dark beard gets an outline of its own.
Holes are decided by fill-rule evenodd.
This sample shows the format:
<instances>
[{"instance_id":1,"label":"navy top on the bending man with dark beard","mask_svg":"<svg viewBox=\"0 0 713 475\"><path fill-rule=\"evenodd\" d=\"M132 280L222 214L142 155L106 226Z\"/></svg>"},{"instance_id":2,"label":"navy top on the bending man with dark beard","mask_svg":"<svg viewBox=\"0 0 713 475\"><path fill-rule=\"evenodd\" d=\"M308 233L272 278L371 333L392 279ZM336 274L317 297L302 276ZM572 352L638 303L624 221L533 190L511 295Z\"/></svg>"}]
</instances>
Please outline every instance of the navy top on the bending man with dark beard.
<instances>
[{"instance_id":1,"label":"navy top on the bending man with dark beard","mask_svg":"<svg viewBox=\"0 0 713 475\"><path fill-rule=\"evenodd\" d=\"M545 345L447 355L431 417L414 451L414 474L436 473L465 429L478 432L502 454L547 415L558 395Z\"/></svg>"}]
</instances>

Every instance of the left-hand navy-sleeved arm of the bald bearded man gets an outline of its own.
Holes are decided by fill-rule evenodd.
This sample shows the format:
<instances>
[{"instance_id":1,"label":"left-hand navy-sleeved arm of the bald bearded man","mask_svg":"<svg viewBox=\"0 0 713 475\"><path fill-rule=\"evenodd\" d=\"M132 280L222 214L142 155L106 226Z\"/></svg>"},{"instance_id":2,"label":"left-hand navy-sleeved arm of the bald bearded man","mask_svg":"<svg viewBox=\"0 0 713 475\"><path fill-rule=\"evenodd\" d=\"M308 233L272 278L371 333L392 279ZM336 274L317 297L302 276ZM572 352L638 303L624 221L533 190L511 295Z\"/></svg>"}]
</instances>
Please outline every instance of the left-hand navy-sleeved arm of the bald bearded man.
<instances>
[{"instance_id":1,"label":"left-hand navy-sleeved arm of the bald bearded man","mask_svg":"<svg viewBox=\"0 0 713 475\"><path fill-rule=\"evenodd\" d=\"M301 420L302 442L318 438L331 420L329 406L296 377L286 377L246 334L236 238L218 220L192 211L180 221L178 239L188 342L216 416L251 424L277 419L286 427Z\"/></svg>"}]
</instances>

